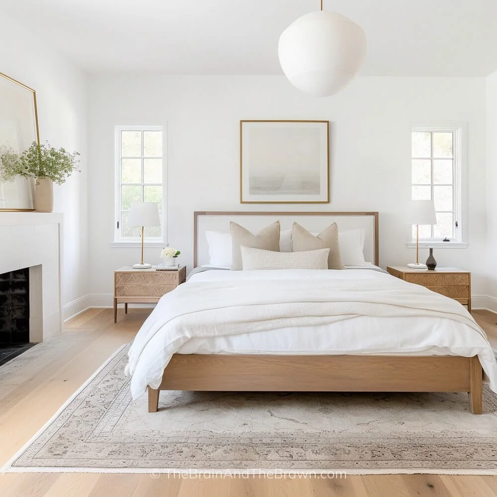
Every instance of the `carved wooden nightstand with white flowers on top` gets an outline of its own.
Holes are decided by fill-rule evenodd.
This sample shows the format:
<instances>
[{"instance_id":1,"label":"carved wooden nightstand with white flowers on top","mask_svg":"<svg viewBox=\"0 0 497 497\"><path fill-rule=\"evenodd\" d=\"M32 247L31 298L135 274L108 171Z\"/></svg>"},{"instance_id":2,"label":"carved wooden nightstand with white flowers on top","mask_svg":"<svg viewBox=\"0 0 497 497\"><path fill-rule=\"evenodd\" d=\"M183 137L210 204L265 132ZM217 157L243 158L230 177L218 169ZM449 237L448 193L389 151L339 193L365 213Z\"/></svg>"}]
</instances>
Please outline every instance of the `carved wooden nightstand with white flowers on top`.
<instances>
[{"instance_id":1,"label":"carved wooden nightstand with white flowers on top","mask_svg":"<svg viewBox=\"0 0 497 497\"><path fill-rule=\"evenodd\" d=\"M133 269L124 266L114 271L114 323L117 322L117 304L156 304L161 297L186 280L186 266L166 271Z\"/></svg>"}]
</instances>

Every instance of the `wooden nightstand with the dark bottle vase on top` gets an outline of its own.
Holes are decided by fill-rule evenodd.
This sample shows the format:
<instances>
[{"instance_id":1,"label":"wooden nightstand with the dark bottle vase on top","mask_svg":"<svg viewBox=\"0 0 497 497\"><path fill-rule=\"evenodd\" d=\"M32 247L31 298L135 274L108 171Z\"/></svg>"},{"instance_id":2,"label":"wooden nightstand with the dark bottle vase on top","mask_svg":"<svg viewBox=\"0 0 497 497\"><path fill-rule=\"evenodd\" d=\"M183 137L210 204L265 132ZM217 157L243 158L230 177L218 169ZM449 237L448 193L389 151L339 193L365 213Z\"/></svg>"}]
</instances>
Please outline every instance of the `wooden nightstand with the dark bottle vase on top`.
<instances>
[{"instance_id":1,"label":"wooden nightstand with the dark bottle vase on top","mask_svg":"<svg viewBox=\"0 0 497 497\"><path fill-rule=\"evenodd\" d=\"M471 273L455 267L436 267L435 270L411 269L407 266L387 267L387 271L397 278L425 286L432 292L457 300L468 306L471 313Z\"/></svg>"}]
</instances>

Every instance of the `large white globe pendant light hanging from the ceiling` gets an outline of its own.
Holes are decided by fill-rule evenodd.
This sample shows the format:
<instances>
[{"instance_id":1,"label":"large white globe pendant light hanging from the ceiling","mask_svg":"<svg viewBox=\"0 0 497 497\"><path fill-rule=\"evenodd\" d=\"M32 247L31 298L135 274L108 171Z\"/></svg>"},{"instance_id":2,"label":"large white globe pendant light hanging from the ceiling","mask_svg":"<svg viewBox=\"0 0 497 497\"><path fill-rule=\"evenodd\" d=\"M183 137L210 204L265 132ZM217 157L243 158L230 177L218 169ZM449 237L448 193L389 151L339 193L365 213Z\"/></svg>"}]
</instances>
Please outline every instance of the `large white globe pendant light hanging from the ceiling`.
<instances>
[{"instance_id":1,"label":"large white globe pendant light hanging from the ceiling","mask_svg":"<svg viewBox=\"0 0 497 497\"><path fill-rule=\"evenodd\" d=\"M319 10L299 17L280 36L281 69L295 87L316 96L343 88L366 56L366 35L344 15Z\"/></svg>"}]
</instances>

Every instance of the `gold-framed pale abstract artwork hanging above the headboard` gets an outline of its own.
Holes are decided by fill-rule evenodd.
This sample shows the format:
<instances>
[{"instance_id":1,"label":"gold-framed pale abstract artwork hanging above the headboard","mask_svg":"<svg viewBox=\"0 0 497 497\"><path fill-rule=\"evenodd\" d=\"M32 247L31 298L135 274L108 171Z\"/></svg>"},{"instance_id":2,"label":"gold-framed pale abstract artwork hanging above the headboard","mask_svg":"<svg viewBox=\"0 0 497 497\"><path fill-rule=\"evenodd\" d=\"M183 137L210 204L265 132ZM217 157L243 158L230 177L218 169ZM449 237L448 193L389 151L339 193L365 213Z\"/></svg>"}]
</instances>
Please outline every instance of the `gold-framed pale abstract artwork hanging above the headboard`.
<instances>
[{"instance_id":1,"label":"gold-framed pale abstract artwork hanging above the headboard","mask_svg":"<svg viewBox=\"0 0 497 497\"><path fill-rule=\"evenodd\" d=\"M330 202L330 121L240 121L240 202Z\"/></svg>"}]
</instances>

